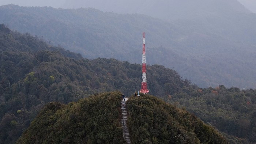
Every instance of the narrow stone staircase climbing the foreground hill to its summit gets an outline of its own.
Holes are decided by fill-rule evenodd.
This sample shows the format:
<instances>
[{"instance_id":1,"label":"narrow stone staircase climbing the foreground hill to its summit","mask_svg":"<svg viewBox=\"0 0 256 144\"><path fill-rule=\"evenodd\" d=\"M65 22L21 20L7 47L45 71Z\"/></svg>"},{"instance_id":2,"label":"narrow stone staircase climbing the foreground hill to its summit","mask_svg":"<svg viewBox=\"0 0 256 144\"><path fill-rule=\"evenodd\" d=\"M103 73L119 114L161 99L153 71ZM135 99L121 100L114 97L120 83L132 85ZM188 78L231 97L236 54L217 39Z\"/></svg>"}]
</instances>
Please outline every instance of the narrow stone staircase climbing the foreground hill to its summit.
<instances>
[{"instance_id":1,"label":"narrow stone staircase climbing the foreground hill to its summit","mask_svg":"<svg viewBox=\"0 0 256 144\"><path fill-rule=\"evenodd\" d=\"M126 100L125 100L126 101ZM121 110L122 110L122 119L121 119L121 125L124 129L124 139L126 140L127 144L131 144L131 139L129 135L129 130L127 128L126 122L127 122L127 110L126 110L126 104L123 106L124 101L121 101Z\"/></svg>"}]
</instances>

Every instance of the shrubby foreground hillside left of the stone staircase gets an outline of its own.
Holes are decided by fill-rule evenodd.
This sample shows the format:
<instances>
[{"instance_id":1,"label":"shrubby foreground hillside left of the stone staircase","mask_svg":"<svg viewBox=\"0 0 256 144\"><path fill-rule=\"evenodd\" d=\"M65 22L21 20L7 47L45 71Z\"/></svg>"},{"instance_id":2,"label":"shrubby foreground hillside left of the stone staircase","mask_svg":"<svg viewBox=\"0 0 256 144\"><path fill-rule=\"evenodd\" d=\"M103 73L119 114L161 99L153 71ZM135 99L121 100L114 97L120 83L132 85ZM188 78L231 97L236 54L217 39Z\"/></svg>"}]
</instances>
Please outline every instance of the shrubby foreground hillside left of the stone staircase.
<instances>
[{"instance_id":1,"label":"shrubby foreground hillside left of the stone staircase","mask_svg":"<svg viewBox=\"0 0 256 144\"><path fill-rule=\"evenodd\" d=\"M17 143L124 144L120 92L44 106Z\"/></svg>"}]
</instances>

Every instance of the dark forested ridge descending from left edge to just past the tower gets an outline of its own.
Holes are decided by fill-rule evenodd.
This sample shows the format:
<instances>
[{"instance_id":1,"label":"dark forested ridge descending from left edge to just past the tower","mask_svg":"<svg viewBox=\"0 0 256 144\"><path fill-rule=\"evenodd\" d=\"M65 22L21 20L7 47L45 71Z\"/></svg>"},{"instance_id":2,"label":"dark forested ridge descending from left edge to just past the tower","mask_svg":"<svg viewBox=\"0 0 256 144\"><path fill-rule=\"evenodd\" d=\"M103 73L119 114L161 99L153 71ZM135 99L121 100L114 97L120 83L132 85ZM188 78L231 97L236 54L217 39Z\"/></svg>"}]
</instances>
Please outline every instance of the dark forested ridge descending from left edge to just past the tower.
<instances>
[{"instance_id":1,"label":"dark forested ridge descending from left edge to just past the tower","mask_svg":"<svg viewBox=\"0 0 256 144\"><path fill-rule=\"evenodd\" d=\"M64 53L64 54L63 54ZM65 57L64 55L73 57ZM30 34L0 25L0 141L14 143L48 102L69 103L98 92L120 90L129 96L141 86L141 65L115 59L88 60L49 46ZM191 87L178 73L148 66L151 94L164 87ZM172 93L173 93L172 92Z\"/></svg>"}]
</instances>

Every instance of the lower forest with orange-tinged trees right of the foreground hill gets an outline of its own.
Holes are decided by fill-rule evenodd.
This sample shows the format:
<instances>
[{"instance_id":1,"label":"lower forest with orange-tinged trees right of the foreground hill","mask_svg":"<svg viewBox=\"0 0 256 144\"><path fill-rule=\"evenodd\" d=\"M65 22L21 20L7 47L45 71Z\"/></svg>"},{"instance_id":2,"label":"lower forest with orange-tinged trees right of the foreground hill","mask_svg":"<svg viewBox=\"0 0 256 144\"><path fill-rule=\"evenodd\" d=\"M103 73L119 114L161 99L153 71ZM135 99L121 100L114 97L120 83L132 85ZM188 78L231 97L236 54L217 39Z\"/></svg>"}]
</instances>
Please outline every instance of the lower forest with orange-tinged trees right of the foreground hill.
<instances>
[{"instance_id":1,"label":"lower forest with orange-tinged trees right of the foreground hill","mask_svg":"<svg viewBox=\"0 0 256 144\"><path fill-rule=\"evenodd\" d=\"M233 143L256 142L256 91L226 88L183 88L166 95L165 101L180 107L214 126L219 131L233 135ZM235 139L239 137L242 139Z\"/></svg>"}]
</instances>

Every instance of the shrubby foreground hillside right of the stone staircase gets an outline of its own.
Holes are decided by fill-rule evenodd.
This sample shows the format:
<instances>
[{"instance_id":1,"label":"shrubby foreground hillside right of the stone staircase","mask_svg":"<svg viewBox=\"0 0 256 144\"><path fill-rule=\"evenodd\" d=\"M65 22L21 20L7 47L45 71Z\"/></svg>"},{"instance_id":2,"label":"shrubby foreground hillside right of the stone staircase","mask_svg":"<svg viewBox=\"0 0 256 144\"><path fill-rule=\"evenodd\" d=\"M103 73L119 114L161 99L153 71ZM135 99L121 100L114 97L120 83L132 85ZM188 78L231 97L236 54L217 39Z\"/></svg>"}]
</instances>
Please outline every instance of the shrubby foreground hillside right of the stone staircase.
<instances>
[{"instance_id":1,"label":"shrubby foreground hillside right of the stone staircase","mask_svg":"<svg viewBox=\"0 0 256 144\"><path fill-rule=\"evenodd\" d=\"M227 144L212 126L154 96L132 97L127 107L127 124L134 144Z\"/></svg>"}]
</instances>

